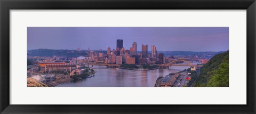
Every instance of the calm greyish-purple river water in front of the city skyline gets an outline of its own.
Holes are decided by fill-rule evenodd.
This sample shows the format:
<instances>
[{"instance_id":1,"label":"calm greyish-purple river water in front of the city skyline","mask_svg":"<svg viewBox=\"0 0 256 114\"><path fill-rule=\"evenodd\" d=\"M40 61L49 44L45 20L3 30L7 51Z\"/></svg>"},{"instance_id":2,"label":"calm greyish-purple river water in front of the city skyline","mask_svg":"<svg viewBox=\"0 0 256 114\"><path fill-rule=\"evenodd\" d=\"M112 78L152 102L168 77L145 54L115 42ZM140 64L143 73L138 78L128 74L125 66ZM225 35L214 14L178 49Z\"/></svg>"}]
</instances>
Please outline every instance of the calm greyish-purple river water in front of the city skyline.
<instances>
[{"instance_id":1,"label":"calm greyish-purple river water in front of the city skyline","mask_svg":"<svg viewBox=\"0 0 256 114\"><path fill-rule=\"evenodd\" d=\"M189 67L170 67L170 69L127 70L94 66L94 77L77 82L67 82L57 87L154 87L156 79Z\"/></svg>"}]
</instances>

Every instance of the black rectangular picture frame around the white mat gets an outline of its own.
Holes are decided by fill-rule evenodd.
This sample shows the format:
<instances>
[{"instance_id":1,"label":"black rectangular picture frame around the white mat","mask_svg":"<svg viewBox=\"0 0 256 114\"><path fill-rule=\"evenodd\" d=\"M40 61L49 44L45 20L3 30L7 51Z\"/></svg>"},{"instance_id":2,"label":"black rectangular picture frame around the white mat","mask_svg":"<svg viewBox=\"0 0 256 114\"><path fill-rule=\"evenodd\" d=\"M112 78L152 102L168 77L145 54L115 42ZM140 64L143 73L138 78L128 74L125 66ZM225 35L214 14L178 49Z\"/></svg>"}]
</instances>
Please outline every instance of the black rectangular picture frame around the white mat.
<instances>
[{"instance_id":1,"label":"black rectangular picture frame around the white mat","mask_svg":"<svg viewBox=\"0 0 256 114\"><path fill-rule=\"evenodd\" d=\"M255 113L255 0L0 0L1 113ZM247 11L246 105L10 105L10 10L186 9ZM244 61L245 62L245 61ZM21 96L22 99L22 96Z\"/></svg>"}]
</instances>

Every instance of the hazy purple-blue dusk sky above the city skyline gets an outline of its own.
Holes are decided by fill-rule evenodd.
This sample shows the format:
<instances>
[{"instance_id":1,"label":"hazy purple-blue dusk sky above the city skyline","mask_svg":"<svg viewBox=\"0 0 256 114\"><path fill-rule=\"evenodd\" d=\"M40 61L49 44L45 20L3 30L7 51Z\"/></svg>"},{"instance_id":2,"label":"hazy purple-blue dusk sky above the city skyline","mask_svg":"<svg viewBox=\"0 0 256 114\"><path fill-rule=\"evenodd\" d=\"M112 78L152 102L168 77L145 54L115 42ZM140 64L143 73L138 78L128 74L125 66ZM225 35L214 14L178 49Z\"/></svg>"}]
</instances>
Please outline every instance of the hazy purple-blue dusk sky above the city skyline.
<instances>
[{"instance_id":1,"label":"hazy purple-blue dusk sky above the city skyline","mask_svg":"<svg viewBox=\"0 0 256 114\"><path fill-rule=\"evenodd\" d=\"M227 51L228 27L27 27L27 48L107 50L116 48L116 40L130 50L147 44L148 51Z\"/></svg>"}]
</instances>

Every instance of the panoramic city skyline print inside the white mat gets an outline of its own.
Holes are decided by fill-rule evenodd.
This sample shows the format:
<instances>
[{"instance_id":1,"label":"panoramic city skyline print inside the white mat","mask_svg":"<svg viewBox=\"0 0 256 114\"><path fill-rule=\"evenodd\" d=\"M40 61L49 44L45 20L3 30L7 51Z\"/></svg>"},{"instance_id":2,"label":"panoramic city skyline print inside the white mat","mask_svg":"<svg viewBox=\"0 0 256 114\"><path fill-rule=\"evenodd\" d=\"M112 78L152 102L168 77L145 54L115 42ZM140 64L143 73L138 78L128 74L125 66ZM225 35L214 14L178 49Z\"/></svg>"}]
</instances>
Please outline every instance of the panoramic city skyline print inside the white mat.
<instances>
[{"instance_id":1,"label":"panoramic city skyline print inside the white mat","mask_svg":"<svg viewBox=\"0 0 256 114\"><path fill-rule=\"evenodd\" d=\"M27 87L228 87L228 27L27 27Z\"/></svg>"}]
</instances>

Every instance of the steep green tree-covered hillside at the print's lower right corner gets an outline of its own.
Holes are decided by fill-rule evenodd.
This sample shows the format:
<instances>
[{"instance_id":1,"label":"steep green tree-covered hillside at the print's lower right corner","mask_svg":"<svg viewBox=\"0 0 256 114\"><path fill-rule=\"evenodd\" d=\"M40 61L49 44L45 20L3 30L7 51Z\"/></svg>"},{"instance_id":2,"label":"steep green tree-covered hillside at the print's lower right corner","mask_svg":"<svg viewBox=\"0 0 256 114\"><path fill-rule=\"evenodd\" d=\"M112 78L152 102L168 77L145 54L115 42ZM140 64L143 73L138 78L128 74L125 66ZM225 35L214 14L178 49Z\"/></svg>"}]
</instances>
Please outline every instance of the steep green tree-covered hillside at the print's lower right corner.
<instances>
[{"instance_id":1,"label":"steep green tree-covered hillside at the print's lower right corner","mask_svg":"<svg viewBox=\"0 0 256 114\"><path fill-rule=\"evenodd\" d=\"M228 87L228 51L220 53L207 62L202 68L195 86Z\"/></svg>"}]
</instances>

